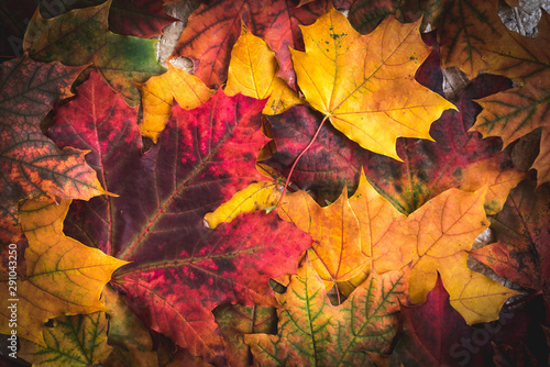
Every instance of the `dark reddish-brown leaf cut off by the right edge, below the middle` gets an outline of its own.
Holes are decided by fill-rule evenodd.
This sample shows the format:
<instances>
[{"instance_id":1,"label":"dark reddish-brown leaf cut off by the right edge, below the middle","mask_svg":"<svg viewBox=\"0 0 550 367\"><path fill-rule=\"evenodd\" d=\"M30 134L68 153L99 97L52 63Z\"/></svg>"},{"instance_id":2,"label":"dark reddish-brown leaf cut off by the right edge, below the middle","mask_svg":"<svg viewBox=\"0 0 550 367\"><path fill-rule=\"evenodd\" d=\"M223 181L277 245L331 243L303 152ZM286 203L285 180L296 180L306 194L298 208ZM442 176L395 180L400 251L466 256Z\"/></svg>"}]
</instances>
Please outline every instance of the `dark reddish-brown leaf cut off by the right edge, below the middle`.
<instances>
[{"instance_id":1,"label":"dark reddish-brown leaf cut off by the right edge, below the middle","mask_svg":"<svg viewBox=\"0 0 550 367\"><path fill-rule=\"evenodd\" d=\"M524 181L510 192L491 229L497 243L484 246L472 256L496 274L541 293L550 310L550 233L548 227L550 190L548 185L535 190L535 182ZM542 229L542 230L541 230Z\"/></svg>"}]
</instances>

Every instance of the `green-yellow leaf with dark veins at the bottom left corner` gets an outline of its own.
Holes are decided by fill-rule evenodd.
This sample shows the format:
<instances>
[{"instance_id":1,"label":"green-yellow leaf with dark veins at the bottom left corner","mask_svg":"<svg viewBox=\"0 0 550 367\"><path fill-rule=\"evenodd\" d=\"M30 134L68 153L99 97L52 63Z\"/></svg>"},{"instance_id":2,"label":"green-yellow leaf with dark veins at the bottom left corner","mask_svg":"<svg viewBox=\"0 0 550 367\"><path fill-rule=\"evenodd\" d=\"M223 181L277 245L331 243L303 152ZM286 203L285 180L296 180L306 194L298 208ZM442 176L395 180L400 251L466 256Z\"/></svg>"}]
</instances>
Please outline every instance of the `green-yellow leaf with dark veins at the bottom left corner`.
<instances>
[{"instance_id":1,"label":"green-yellow leaf with dark veins at the bottom left corner","mask_svg":"<svg viewBox=\"0 0 550 367\"><path fill-rule=\"evenodd\" d=\"M53 327L44 327L46 346L21 340L18 356L33 366L89 367L102 363L112 351L107 345L105 312L61 316Z\"/></svg>"}]
</instances>

